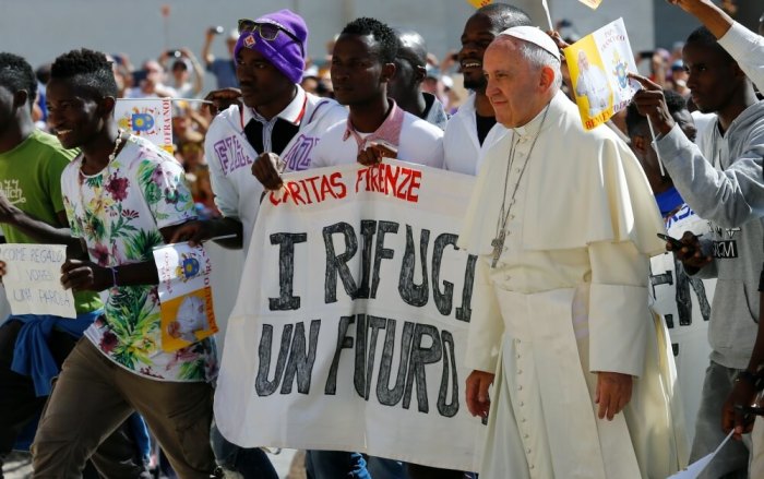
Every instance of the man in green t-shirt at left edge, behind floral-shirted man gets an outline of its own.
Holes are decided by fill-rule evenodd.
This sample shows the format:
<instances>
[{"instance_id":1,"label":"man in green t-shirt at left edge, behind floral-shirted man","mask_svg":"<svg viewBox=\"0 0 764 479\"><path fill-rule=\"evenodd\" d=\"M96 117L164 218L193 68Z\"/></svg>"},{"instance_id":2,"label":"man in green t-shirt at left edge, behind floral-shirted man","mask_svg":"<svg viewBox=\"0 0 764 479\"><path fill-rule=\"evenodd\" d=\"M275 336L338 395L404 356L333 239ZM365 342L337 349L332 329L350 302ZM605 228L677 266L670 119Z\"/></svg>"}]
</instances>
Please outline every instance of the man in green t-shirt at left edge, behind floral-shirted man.
<instances>
[{"instance_id":1,"label":"man in green t-shirt at left edge, behind floral-shirted man","mask_svg":"<svg viewBox=\"0 0 764 479\"><path fill-rule=\"evenodd\" d=\"M75 152L35 129L32 105L36 96L32 65L16 55L0 52L0 229L9 243L68 244L69 253L77 255L82 253L80 240L70 235L61 200L61 172ZM4 274L5 262L0 261L0 276ZM0 469L13 448L28 447L63 360L103 314L94 291L75 294L74 308L76 319L51 314L0 318ZM129 422L92 457L106 479L151 477Z\"/></svg>"}]
</instances>

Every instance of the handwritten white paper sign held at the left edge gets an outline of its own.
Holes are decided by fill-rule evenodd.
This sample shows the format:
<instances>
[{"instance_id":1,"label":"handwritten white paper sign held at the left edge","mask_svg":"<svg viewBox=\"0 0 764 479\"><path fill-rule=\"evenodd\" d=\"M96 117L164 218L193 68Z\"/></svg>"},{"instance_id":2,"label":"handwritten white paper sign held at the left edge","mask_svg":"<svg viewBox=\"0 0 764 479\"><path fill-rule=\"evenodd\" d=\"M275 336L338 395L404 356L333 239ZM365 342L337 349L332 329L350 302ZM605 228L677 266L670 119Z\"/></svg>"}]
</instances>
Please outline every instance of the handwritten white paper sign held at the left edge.
<instances>
[{"instance_id":1,"label":"handwritten white paper sign held at the left edge","mask_svg":"<svg viewBox=\"0 0 764 479\"><path fill-rule=\"evenodd\" d=\"M61 286L65 244L0 244L5 296L13 314L76 318L71 289Z\"/></svg>"}]
</instances>

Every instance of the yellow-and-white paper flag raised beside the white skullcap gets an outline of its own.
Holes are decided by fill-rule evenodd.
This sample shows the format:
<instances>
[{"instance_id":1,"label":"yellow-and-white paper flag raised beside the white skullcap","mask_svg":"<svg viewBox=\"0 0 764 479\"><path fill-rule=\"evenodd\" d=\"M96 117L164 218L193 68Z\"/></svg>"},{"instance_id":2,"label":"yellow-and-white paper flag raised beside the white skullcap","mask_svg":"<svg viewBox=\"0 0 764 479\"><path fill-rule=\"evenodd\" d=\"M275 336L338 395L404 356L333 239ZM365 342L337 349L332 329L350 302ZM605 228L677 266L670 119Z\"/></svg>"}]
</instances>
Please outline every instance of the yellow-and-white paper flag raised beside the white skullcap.
<instances>
[{"instance_id":1,"label":"yellow-and-white paper flag raised beside the white skullcap","mask_svg":"<svg viewBox=\"0 0 764 479\"><path fill-rule=\"evenodd\" d=\"M605 123L629 106L638 86L626 76L629 72L636 72L636 64L623 19L605 25L563 51L585 129Z\"/></svg>"}]
</instances>

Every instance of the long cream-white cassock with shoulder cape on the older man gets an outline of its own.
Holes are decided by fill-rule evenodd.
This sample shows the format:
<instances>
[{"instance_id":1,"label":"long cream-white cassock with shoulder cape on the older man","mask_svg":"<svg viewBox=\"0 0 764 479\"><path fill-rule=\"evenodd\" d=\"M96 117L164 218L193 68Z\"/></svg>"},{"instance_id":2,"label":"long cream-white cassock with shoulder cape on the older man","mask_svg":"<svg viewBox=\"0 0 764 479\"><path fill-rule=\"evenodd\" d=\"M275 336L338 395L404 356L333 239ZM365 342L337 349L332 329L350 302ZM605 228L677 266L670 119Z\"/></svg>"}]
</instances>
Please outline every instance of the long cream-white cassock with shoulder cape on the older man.
<instances>
[{"instance_id":1,"label":"long cream-white cassock with shoulder cape on the older man","mask_svg":"<svg viewBox=\"0 0 764 479\"><path fill-rule=\"evenodd\" d=\"M548 108L486 152L459 237L492 292L473 312L467 351L469 368L497 373L480 477L666 478L687 444L670 347L647 308L662 221L610 129L584 131L562 93ZM491 268L513 143L505 203L520 188ZM596 417L596 371L635 378L612 421Z\"/></svg>"}]
</instances>

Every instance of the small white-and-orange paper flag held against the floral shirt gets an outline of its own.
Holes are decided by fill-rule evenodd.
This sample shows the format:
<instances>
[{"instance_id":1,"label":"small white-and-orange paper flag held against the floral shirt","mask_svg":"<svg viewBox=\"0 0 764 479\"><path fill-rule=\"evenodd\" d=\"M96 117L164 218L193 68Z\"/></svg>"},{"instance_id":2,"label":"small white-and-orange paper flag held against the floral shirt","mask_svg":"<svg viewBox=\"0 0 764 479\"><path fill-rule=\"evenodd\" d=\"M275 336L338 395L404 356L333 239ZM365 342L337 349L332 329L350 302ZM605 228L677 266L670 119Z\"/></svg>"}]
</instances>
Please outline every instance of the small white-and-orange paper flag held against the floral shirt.
<instances>
[{"instance_id":1,"label":"small white-and-orange paper flag held against the floral shirt","mask_svg":"<svg viewBox=\"0 0 764 479\"><path fill-rule=\"evenodd\" d=\"M189 243L154 249L159 273L162 349L175 351L217 333L212 303L212 265L204 247Z\"/></svg>"}]
</instances>

